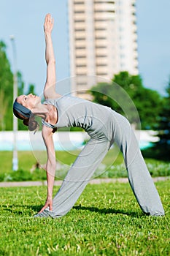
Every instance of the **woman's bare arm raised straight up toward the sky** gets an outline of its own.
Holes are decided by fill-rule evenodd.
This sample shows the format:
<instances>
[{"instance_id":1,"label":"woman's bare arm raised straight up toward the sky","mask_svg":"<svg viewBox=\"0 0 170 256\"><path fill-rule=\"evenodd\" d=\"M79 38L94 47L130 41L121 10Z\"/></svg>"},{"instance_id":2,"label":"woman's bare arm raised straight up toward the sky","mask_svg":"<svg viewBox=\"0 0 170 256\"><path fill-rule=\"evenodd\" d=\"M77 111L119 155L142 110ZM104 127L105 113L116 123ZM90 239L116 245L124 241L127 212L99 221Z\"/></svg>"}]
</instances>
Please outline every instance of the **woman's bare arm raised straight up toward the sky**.
<instances>
[{"instance_id":1,"label":"woman's bare arm raised straight up toward the sky","mask_svg":"<svg viewBox=\"0 0 170 256\"><path fill-rule=\"evenodd\" d=\"M50 14L45 16L44 31L45 31L45 60L47 63L47 79L44 88L45 99L60 97L60 94L55 92L55 56L53 50L53 41L51 33L53 30L54 20Z\"/></svg>"}]
</instances>

